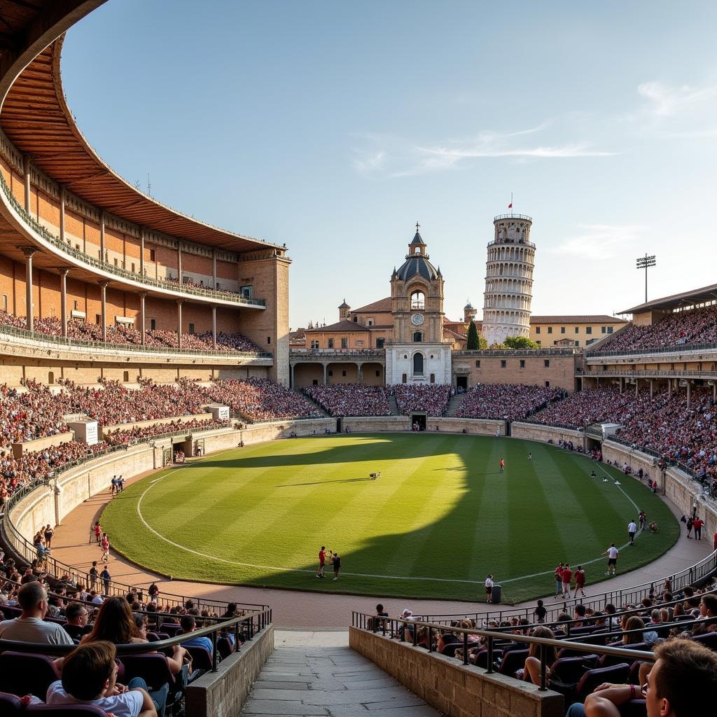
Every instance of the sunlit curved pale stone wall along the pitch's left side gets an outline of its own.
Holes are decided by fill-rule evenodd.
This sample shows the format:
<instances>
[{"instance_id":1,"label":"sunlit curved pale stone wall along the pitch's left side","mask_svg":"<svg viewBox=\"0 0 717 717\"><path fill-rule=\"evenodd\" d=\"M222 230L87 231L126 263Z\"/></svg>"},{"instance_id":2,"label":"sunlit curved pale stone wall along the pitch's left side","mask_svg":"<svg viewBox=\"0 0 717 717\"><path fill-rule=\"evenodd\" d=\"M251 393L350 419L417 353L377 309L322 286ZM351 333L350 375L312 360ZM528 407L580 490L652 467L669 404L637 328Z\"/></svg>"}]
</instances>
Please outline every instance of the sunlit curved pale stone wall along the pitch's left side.
<instances>
[{"instance_id":1,"label":"sunlit curved pale stone wall along the pitch's left side","mask_svg":"<svg viewBox=\"0 0 717 717\"><path fill-rule=\"evenodd\" d=\"M125 424L129 425L129 424ZM242 430L227 431L218 429L192 433L192 440L204 440L204 453L227 450L237 447L240 441L244 445L261 443L279 438L288 438L291 433L297 436L320 435L326 429L336 429L335 419L316 419L306 421L278 421L250 424ZM32 543L36 531L48 523L58 526L70 511L93 495L107 490L113 475L133 478L140 473L157 470L162 467L163 447L171 445L171 439L150 440L126 450L120 450L72 467L58 475L55 481L43 485L28 493L11 509L11 523L24 538ZM87 526L89 535L90 526Z\"/></svg>"}]
</instances>

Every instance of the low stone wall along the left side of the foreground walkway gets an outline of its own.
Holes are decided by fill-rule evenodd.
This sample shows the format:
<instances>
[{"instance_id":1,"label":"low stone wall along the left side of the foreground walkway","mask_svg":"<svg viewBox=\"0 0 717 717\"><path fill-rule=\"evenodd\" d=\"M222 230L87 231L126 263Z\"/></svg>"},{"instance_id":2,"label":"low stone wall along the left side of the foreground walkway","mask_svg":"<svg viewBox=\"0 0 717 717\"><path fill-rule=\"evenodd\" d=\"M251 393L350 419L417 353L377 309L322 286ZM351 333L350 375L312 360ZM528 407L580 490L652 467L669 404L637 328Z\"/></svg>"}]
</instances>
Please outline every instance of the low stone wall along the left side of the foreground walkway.
<instances>
[{"instance_id":1,"label":"low stone wall along the left side of the foreground walkway","mask_svg":"<svg viewBox=\"0 0 717 717\"><path fill-rule=\"evenodd\" d=\"M218 672L206 672L186 688L186 713L191 717L238 715L252 683L274 650L274 626L268 625L254 640L244 642L219 663Z\"/></svg>"}]
</instances>

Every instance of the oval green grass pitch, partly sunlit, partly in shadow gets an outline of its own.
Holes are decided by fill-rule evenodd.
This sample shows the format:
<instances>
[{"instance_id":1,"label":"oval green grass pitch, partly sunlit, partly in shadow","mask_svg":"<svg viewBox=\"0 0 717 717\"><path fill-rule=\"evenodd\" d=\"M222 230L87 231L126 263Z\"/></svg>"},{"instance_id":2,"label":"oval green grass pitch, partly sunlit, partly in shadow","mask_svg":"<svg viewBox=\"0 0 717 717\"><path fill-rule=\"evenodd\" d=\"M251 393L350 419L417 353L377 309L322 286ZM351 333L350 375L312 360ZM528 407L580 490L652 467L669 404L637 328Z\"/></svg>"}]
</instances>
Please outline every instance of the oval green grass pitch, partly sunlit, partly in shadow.
<instances>
[{"instance_id":1,"label":"oval green grass pitch, partly sunlit, partly in shadow","mask_svg":"<svg viewBox=\"0 0 717 717\"><path fill-rule=\"evenodd\" d=\"M379 480L369 479L374 471ZM638 509L660 530L627 547ZM102 524L120 553L176 579L483 600L492 573L503 602L551 594L560 561L584 566L590 594L605 579L600 554L612 541L624 572L679 536L660 498L619 470L547 444L440 433L282 440L209 455L125 489ZM341 555L338 581L330 566L315 578L322 545Z\"/></svg>"}]
</instances>

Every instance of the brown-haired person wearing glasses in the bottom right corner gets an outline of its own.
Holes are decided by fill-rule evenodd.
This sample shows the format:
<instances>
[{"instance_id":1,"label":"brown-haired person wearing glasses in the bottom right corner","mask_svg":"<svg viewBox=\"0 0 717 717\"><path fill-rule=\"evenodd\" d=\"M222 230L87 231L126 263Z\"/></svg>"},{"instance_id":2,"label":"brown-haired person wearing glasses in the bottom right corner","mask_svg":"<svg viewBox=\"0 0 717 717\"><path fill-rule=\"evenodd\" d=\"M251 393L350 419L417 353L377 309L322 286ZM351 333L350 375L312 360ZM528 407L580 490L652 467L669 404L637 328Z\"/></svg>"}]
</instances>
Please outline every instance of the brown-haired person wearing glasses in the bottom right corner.
<instances>
[{"instance_id":1,"label":"brown-haired person wearing glasses in the bottom right corner","mask_svg":"<svg viewBox=\"0 0 717 717\"><path fill-rule=\"evenodd\" d=\"M645 682L637 685L604 683L584 706L576 702L566 717L619 717L619 707L645 697L647 717L688 717L697 706L717 702L717 654L689 640L670 640L655 647L657 660Z\"/></svg>"}]
</instances>

